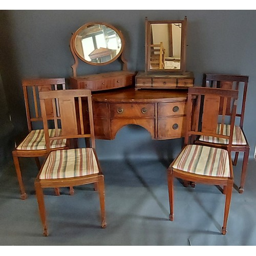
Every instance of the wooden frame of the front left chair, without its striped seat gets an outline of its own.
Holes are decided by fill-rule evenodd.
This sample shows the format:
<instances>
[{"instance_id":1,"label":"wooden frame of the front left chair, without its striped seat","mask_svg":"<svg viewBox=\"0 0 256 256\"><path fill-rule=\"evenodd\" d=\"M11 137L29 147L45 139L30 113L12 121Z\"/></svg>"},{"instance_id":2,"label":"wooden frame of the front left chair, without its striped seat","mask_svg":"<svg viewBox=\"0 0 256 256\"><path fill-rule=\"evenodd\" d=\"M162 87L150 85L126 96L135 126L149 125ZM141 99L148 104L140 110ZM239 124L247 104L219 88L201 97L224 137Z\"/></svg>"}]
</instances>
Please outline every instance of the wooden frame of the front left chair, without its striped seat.
<instances>
[{"instance_id":1,"label":"wooden frame of the front left chair, without its striped seat","mask_svg":"<svg viewBox=\"0 0 256 256\"><path fill-rule=\"evenodd\" d=\"M78 185L84 185L84 184L90 184L90 183L96 184L96 189L99 193L99 199L100 199L101 227L105 228L106 222L105 222L105 200L104 200L104 177L103 177L99 160L97 158L97 154L95 151L95 136L94 136L94 126L93 126L91 91L82 89L82 90L40 92L39 98L40 98L40 104L41 104L42 119L44 122L47 152L48 153L51 152L50 141L56 139L55 136L50 137L48 133L49 123L47 119L47 108L45 103L50 99L52 100L52 103L53 103L53 109L56 109L56 106L58 105L60 110L59 113L54 112L55 118L58 120L58 122L60 122L59 125L61 126L61 129L63 129L63 132L58 136L58 138L90 139L91 140L90 144L91 144L93 153L95 155L97 167L99 170L99 173L90 174L90 175L80 175L78 177L72 176L69 178L40 179L40 174L43 168L49 167L49 165L45 166L46 161L44 162L35 180L36 197L37 197L37 202L39 207L39 214L40 214L42 226L44 229L44 233L43 233L44 236L48 236L49 233L48 233L48 227L46 222L46 209L45 209L43 188L48 188L48 187L59 188L59 187L69 186L73 188L73 186L78 186ZM78 102L78 108L77 108L76 102ZM88 112L88 122L83 122L83 118L84 118L83 112ZM88 124L90 127L89 133L85 133L85 131L88 131L88 127L87 127ZM54 128L57 129L57 126L55 126ZM74 165L70 164L67 166L67 168L70 168L70 166L74 166ZM74 168L74 167L71 167L71 168ZM84 167L77 165L76 168L77 168L76 172L82 174L82 168ZM66 170L68 172L68 169ZM67 177L67 176L64 175L64 177Z\"/></svg>"}]
</instances>

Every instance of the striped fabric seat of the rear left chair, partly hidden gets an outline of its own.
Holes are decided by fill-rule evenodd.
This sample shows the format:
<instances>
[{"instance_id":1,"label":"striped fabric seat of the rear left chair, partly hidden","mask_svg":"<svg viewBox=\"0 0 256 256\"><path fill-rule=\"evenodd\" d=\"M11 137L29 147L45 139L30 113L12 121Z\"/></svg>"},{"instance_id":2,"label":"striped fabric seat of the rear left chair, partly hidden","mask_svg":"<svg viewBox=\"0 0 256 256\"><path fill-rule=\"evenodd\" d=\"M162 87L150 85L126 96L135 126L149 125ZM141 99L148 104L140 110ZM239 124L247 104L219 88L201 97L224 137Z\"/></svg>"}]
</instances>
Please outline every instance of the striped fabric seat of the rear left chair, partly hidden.
<instances>
[{"instance_id":1,"label":"striped fabric seat of the rear left chair, partly hidden","mask_svg":"<svg viewBox=\"0 0 256 256\"><path fill-rule=\"evenodd\" d=\"M60 135L61 130L58 130ZM55 129L49 129L50 137L55 136ZM50 143L51 148L66 146L66 139L52 140ZM20 143L17 150L46 150L46 140L44 130L33 130L29 135Z\"/></svg>"}]
</instances>

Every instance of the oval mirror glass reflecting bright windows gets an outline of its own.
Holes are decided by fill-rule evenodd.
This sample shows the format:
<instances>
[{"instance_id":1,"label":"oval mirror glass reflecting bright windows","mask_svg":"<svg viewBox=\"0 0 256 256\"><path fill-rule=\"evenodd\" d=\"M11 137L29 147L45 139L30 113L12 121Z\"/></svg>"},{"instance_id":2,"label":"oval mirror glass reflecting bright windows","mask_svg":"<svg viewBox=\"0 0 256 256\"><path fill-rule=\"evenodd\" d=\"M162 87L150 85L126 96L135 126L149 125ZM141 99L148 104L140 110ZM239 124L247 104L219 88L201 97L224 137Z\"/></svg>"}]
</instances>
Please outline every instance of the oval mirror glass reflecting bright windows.
<instances>
[{"instance_id":1,"label":"oval mirror glass reflecting bright windows","mask_svg":"<svg viewBox=\"0 0 256 256\"><path fill-rule=\"evenodd\" d=\"M86 24L73 36L73 49L83 61L103 65L118 58L123 44L121 34L106 24Z\"/></svg>"}]
</instances>

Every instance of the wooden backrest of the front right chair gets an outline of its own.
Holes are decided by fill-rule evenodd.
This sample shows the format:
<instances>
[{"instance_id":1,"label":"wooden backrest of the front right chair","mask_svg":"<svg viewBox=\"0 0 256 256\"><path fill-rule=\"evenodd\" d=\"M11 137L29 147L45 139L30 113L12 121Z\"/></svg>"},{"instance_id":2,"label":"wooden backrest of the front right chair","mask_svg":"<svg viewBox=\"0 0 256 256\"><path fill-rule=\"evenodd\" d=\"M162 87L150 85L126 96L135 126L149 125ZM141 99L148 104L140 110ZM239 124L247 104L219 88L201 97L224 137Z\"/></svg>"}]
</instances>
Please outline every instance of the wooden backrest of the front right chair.
<instances>
[{"instance_id":1,"label":"wooden backrest of the front right chair","mask_svg":"<svg viewBox=\"0 0 256 256\"><path fill-rule=\"evenodd\" d=\"M238 93L237 90L229 89L189 88L185 144L189 143L191 137L211 136L228 140L228 150L230 150ZM227 104L228 102L230 105ZM227 109L231 112L231 117ZM230 125L228 129L230 133L227 132L227 125Z\"/></svg>"}]
</instances>

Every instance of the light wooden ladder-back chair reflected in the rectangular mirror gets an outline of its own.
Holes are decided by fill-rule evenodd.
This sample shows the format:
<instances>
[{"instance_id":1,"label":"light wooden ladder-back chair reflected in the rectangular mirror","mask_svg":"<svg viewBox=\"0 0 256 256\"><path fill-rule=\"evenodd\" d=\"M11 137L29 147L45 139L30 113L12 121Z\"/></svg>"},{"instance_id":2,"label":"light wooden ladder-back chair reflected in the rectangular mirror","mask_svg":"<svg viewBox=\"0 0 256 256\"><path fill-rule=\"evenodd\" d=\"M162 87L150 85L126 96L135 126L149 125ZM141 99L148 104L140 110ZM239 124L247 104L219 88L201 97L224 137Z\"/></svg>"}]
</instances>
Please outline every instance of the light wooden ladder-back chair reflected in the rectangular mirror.
<instances>
[{"instance_id":1,"label":"light wooden ladder-back chair reflected in the rectangular mirror","mask_svg":"<svg viewBox=\"0 0 256 256\"><path fill-rule=\"evenodd\" d=\"M163 42L158 45L151 45L151 66L154 69L164 69L165 49Z\"/></svg>"}]
</instances>

